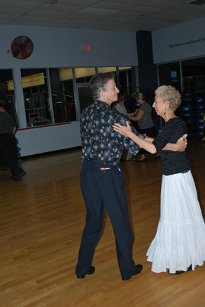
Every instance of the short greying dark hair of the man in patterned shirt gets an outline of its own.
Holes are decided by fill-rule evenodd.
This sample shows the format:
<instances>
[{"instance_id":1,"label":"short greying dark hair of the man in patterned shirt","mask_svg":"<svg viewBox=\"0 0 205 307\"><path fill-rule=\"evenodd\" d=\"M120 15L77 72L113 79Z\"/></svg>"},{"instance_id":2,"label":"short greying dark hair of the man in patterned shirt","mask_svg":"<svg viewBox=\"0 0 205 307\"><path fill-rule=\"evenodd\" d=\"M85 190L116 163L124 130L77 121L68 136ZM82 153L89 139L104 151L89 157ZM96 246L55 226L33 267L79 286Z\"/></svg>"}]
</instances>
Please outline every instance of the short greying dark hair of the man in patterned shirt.
<instances>
[{"instance_id":1,"label":"short greying dark hair of the man in patterned shirt","mask_svg":"<svg viewBox=\"0 0 205 307\"><path fill-rule=\"evenodd\" d=\"M106 72L106 73L99 73L90 79L90 87L92 90L92 98L94 100L99 100L100 92L103 90L106 92L107 90L107 83L109 80L115 80L115 74L113 72Z\"/></svg>"}]
</instances>

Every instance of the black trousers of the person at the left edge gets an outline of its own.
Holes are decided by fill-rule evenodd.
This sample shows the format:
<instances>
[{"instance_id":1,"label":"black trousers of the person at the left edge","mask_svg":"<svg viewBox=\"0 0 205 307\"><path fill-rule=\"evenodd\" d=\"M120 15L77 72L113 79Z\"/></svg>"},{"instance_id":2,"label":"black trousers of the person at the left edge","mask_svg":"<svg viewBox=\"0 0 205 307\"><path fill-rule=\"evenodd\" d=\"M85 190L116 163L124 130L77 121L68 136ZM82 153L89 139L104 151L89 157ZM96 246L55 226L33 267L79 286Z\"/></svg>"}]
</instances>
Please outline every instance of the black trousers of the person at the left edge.
<instances>
[{"instance_id":1,"label":"black trousers of the person at the left edge","mask_svg":"<svg viewBox=\"0 0 205 307\"><path fill-rule=\"evenodd\" d=\"M12 133L0 134L0 148L3 158L10 166L11 174L14 176L20 175L23 170L19 165L17 165L15 136Z\"/></svg>"}]
</instances>

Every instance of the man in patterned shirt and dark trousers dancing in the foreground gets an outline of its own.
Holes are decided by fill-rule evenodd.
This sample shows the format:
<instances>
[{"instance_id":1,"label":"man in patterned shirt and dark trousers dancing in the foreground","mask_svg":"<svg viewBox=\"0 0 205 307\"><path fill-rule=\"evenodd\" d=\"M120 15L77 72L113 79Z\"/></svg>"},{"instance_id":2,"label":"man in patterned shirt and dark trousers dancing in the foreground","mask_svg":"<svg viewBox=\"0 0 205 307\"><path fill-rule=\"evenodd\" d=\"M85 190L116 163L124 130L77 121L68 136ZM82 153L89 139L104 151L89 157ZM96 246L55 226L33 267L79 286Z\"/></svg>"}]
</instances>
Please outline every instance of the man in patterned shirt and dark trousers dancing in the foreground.
<instances>
[{"instance_id":1,"label":"man in patterned shirt and dark trousers dancing in the foreground","mask_svg":"<svg viewBox=\"0 0 205 307\"><path fill-rule=\"evenodd\" d=\"M83 161L80 185L87 214L76 275L82 279L95 271L92 258L101 236L106 206L115 233L122 280L129 280L140 273L143 266L136 265L132 259L133 233L129 221L125 177L118 163L122 147L136 154L139 146L132 139L113 130L115 122L122 125L126 123L126 119L115 114L110 107L112 102L118 99L119 90L116 88L115 75L97 74L92 77L90 85L94 103L86 107L80 117ZM131 129L139 138L145 138L132 125Z\"/></svg>"}]
</instances>

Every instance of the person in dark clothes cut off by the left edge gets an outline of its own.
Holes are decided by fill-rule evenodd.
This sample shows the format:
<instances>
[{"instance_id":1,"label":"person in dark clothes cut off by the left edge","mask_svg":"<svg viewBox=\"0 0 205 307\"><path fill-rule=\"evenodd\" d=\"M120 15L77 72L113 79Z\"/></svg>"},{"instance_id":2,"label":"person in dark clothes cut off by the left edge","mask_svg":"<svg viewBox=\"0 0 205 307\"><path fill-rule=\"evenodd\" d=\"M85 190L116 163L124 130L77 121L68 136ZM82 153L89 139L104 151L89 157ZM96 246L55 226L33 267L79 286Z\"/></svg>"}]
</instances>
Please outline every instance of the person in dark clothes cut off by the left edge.
<instances>
[{"instance_id":1,"label":"person in dark clothes cut off by the left edge","mask_svg":"<svg viewBox=\"0 0 205 307\"><path fill-rule=\"evenodd\" d=\"M17 165L17 149L15 143L16 123L8 114L8 103L0 101L0 148L1 154L10 167L10 179L20 180L26 172Z\"/></svg>"}]
</instances>

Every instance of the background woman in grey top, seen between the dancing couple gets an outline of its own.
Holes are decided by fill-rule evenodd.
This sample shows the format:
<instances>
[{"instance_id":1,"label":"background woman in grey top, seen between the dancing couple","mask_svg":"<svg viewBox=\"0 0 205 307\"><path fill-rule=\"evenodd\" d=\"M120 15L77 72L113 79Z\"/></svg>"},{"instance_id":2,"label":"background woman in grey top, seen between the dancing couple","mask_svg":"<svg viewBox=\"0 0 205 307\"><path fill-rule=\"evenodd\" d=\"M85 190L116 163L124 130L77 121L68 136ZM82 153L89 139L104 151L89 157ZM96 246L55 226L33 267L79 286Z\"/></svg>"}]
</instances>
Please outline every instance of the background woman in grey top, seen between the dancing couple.
<instances>
[{"instance_id":1,"label":"background woman in grey top, seen between the dancing couple","mask_svg":"<svg viewBox=\"0 0 205 307\"><path fill-rule=\"evenodd\" d=\"M148 102L146 102L146 97L143 93L136 93L136 101L139 102L141 106L139 107L139 109L136 110L136 115L129 119L132 119L132 121L137 121L139 126L138 131L141 134L146 134L149 137L155 137L157 134L152 119L152 107L150 106L150 104L148 104ZM139 158L139 160L136 160L136 162L146 161L146 154L148 153L148 151L146 151L145 149L141 149L139 153L141 154L141 157ZM160 155L157 154L157 156Z\"/></svg>"}]
</instances>

